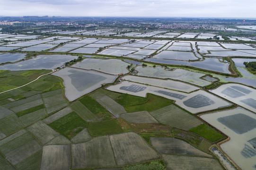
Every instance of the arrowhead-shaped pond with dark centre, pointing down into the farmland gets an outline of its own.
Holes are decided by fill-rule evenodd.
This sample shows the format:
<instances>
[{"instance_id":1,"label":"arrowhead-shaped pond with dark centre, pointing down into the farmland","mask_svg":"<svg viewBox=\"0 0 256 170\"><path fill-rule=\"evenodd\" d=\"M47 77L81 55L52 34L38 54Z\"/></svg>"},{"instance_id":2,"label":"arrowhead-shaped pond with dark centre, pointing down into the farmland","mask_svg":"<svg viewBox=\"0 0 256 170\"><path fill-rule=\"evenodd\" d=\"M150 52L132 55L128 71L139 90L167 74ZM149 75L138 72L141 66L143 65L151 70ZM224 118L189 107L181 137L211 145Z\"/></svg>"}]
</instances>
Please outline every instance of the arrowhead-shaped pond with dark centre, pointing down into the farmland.
<instances>
[{"instance_id":1,"label":"arrowhead-shaped pond with dark centre, pointing down into the farmland","mask_svg":"<svg viewBox=\"0 0 256 170\"><path fill-rule=\"evenodd\" d=\"M104 83L113 83L116 76L78 68L64 68L53 73L64 79L65 95L69 101L90 93Z\"/></svg>"}]
</instances>

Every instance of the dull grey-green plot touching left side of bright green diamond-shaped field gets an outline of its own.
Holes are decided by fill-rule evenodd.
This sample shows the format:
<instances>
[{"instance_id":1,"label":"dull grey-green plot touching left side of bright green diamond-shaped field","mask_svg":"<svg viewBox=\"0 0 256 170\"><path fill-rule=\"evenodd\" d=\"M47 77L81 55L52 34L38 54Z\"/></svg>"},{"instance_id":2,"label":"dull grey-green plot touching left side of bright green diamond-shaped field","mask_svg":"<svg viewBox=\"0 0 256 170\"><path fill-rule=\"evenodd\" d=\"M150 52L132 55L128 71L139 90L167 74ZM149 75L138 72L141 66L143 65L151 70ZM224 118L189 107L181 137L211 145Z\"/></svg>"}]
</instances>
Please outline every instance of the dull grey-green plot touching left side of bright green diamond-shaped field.
<instances>
[{"instance_id":1,"label":"dull grey-green plot touching left side of bright green diamond-shaped field","mask_svg":"<svg viewBox=\"0 0 256 170\"><path fill-rule=\"evenodd\" d=\"M44 124L44 122L42 121L38 121L35 124L27 127L26 129L29 132L31 132L36 137L36 139L41 142L41 144L46 144L47 142L51 141L54 137L59 135L59 133L57 133L51 127Z\"/></svg>"}]
</instances>

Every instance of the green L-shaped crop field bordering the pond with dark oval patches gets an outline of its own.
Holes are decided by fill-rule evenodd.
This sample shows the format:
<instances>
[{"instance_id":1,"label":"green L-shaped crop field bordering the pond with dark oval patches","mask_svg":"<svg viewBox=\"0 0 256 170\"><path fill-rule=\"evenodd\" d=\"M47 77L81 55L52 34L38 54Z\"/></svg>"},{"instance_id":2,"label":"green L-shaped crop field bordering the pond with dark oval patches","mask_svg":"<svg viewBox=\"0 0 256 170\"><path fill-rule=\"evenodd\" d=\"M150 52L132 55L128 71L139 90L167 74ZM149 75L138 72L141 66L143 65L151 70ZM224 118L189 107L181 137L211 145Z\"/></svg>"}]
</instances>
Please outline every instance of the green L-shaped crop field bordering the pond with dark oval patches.
<instances>
[{"instance_id":1,"label":"green L-shaped crop field bordering the pond with dark oval patches","mask_svg":"<svg viewBox=\"0 0 256 170\"><path fill-rule=\"evenodd\" d=\"M126 106L124 108L128 113L143 111L143 110L147 110L150 112L150 111L158 110L162 107L168 106L173 102L172 100L169 100L154 94L148 94L148 98L149 98L148 101L143 104Z\"/></svg>"}]
</instances>

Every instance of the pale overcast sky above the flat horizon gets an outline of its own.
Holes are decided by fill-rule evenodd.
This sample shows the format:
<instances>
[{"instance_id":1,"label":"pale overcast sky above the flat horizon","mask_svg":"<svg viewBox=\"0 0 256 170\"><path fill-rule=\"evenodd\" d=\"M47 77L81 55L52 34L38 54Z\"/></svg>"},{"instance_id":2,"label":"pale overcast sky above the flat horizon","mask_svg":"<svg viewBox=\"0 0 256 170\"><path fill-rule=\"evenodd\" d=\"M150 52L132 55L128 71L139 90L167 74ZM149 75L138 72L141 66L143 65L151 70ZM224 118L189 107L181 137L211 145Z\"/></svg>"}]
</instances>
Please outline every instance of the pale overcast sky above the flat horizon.
<instances>
[{"instance_id":1,"label":"pale overcast sky above the flat horizon","mask_svg":"<svg viewBox=\"0 0 256 170\"><path fill-rule=\"evenodd\" d=\"M0 15L256 18L256 0L0 0Z\"/></svg>"}]
</instances>

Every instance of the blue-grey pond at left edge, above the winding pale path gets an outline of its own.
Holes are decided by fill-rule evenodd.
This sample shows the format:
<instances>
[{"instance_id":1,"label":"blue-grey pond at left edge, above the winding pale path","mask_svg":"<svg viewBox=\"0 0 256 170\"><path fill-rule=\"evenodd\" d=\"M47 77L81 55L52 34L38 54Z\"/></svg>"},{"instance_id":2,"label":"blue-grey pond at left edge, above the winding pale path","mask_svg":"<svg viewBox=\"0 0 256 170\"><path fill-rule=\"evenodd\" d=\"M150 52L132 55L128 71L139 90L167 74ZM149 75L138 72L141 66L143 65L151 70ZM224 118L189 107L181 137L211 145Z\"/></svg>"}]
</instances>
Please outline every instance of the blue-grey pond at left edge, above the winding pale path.
<instances>
[{"instance_id":1,"label":"blue-grey pond at left edge, above the winding pale path","mask_svg":"<svg viewBox=\"0 0 256 170\"><path fill-rule=\"evenodd\" d=\"M39 55L33 59L0 66L0 70L54 69L74 58L76 57L71 55Z\"/></svg>"}]
</instances>

